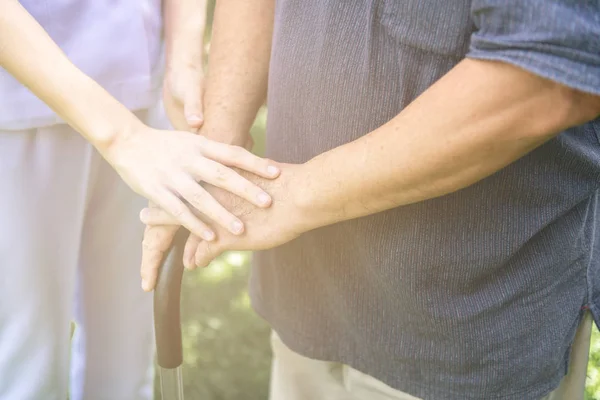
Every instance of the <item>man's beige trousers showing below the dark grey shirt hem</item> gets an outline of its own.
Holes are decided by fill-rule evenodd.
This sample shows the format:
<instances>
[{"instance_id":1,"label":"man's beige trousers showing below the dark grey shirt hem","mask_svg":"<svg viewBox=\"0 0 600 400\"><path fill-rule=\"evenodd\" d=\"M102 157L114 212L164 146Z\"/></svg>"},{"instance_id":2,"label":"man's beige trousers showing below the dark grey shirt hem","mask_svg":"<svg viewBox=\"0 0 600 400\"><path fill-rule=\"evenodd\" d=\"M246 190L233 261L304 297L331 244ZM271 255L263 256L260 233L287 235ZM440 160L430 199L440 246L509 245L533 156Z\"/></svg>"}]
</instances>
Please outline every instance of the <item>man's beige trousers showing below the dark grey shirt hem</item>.
<instances>
[{"instance_id":1,"label":"man's beige trousers showing below the dark grey shirt hem","mask_svg":"<svg viewBox=\"0 0 600 400\"><path fill-rule=\"evenodd\" d=\"M556 390L540 400L584 399L591 327L592 319L586 313L571 350L568 375ZM301 356L276 333L271 335L271 346L270 400L419 400L347 365Z\"/></svg>"}]
</instances>

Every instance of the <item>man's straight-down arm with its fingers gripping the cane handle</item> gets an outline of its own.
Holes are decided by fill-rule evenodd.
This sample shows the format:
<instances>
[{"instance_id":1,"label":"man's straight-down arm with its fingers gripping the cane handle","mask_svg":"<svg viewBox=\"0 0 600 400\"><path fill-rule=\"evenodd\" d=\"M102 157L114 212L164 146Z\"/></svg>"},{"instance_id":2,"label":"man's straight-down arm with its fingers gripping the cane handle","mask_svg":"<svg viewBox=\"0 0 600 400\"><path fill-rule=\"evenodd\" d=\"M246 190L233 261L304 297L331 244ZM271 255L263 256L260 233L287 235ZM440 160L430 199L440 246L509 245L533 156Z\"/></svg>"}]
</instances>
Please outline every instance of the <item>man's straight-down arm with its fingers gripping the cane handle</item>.
<instances>
[{"instance_id":1,"label":"man's straight-down arm with its fingers gripping the cane handle","mask_svg":"<svg viewBox=\"0 0 600 400\"><path fill-rule=\"evenodd\" d=\"M173 1L171 6L177 4ZM170 7L165 9L166 17L172 19L173 15L169 16L169 10ZM274 10L274 0L217 1L210 47L209 76L203 100L204 119L200 132L203 136L223 143L249 147L250 127L266 97ZM174 38L170 41L173 42ZM172 46L172 49L176 50L178 47ZM177 60L177 57L174 59ZM177 75L172 76L178 79ZM168 109L169 104L166 105ZM171 121L173 122L173 118ZM227 209L232 211L232 205L228 204ZM151 207L150 210L166 215L171 224L176 223L160 208ZM141 265L144 290L154 288L161 260L168 251L177 229L177 226L170 224L146 227ZM197 235L190 235L186 246L188 252L195 250L193 245L198 240ZM188 267L191 264L186 262Z\"/></svg>"}]
</instances>

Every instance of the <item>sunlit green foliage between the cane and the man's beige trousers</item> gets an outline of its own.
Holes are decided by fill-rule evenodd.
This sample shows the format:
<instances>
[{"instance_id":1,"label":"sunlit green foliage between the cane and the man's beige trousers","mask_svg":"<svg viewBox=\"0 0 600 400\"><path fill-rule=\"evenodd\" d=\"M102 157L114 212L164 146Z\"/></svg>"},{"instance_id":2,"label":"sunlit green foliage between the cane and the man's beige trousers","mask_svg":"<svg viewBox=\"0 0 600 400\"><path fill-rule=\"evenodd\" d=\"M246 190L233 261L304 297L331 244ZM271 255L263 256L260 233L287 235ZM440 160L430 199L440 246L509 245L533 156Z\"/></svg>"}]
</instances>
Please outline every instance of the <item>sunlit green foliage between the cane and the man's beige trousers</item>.
<instances>
[{"instance_id":1,"label":"sunlit green foliage between the cane and the man's beige trousers","mask_svg":"<svg viewBox=\"0 0 600 400\"><path fill-rule=\"evenodd\" d=\"M182 292L186 397L263 400L269 327L250 308L248 253L229 253L188 273Z\"/></svg>"}]
</instances>

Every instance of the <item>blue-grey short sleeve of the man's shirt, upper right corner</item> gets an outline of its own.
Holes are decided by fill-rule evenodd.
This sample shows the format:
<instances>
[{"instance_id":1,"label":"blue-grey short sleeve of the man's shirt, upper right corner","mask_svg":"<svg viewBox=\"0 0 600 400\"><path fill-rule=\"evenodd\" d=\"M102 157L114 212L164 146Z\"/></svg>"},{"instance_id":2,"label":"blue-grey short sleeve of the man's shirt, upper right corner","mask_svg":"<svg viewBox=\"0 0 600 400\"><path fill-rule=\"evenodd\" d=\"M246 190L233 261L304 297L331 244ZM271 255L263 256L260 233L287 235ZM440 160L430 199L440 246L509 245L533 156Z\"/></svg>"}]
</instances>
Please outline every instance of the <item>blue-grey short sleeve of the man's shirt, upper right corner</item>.
<instances>
[{"instance_id":1,"label":"blue-grey short sleeve of the man's shirt, upper right corner","mask_svg":"<svg viewBox=\"0 0 600 400\"><path fill-rule=\"evenodd\" d=\"M600 0L473 0L468 58L600 95Z\"/></svg>"}]
</instances>

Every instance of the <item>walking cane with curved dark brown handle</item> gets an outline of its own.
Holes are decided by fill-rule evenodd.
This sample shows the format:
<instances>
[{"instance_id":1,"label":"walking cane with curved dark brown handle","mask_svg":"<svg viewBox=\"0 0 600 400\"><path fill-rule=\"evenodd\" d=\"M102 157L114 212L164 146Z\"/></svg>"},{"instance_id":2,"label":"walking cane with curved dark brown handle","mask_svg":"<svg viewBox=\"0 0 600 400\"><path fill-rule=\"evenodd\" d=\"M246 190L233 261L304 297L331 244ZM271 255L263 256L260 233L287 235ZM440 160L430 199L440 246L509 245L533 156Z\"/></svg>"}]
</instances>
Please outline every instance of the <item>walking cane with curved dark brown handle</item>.
<instances>
[{"instance_id":1,"label":"walking cane with curved dark brown handle","mask_svg":"<svg viewBox=\"0 0 600 400\"><path fill-rule=\"evenodd\" d=\"M181 278L183 249L189 232L179 229L163 260L154 290L154 331L162 400L183 400L181 364Z\"/></svg>"}]
</instances>

